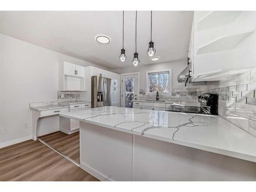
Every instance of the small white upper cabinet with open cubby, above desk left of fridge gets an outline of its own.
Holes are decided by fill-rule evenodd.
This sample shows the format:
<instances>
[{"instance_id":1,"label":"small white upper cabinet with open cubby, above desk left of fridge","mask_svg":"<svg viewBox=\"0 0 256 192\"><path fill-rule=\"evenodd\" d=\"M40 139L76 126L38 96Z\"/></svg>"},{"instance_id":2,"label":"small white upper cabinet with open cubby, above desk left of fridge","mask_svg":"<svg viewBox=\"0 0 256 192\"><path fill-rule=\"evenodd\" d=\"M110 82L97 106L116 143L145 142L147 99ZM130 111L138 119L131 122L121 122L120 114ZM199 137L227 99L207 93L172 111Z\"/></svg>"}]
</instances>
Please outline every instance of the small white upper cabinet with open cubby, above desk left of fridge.
<instances>
[{"instance_id":1,"label":"small white upper cabinet with open cubby, above desk left of fridge","mask_svg":"<svg viewBox=\"0 0 256 192\"><path fill-rule=\"evenodd\" d=\"M86 91L85 68L70 62L59 64L59 91Z\"/></svg>"}]
</instances>

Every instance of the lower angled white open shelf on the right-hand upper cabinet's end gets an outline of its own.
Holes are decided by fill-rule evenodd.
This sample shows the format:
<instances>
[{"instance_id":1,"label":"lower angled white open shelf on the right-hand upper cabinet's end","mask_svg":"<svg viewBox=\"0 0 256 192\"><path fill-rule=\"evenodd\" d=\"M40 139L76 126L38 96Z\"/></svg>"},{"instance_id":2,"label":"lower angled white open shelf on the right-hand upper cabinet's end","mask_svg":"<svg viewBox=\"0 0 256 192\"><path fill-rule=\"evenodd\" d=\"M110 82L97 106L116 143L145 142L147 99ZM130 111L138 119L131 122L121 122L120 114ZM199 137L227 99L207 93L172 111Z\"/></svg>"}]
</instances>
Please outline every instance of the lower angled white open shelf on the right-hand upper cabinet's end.
<instances>
[{"instance_id":1,"label":"lower angled white open shelf on the right-hand upper cabinet's end","mask_svg":"<svg viewBox=\"0 0 256 192\"><path fill-rule=\"evenodd\" d=\"M254 30L230 35L226 37L220 37L209 44L198 48L197 54L212 53L217 51L231 50L236 48L244 39L246 39Z\"/></svg>"}]
</instances>

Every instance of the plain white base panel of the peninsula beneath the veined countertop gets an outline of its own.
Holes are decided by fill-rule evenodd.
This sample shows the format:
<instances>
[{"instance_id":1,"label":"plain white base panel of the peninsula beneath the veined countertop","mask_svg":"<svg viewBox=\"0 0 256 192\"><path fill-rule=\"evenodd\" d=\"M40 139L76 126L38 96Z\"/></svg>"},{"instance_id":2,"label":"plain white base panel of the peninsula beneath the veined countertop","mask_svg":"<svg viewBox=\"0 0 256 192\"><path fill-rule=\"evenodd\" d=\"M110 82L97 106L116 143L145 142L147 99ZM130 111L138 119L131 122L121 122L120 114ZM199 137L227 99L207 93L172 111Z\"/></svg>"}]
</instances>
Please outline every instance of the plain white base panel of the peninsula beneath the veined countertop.
<instances>
[{"instance_id":1,"label":"plain white base panel of the peninsula beneath the veined countertop","mask_svg":"<svg viewBox=\"0 0 256 192\"><path fill-rule=\"evenodd\" d=\"M101 181L256 180L254 162L86 122L80 127L80 167Z\"/></svg>"}]
</instances>

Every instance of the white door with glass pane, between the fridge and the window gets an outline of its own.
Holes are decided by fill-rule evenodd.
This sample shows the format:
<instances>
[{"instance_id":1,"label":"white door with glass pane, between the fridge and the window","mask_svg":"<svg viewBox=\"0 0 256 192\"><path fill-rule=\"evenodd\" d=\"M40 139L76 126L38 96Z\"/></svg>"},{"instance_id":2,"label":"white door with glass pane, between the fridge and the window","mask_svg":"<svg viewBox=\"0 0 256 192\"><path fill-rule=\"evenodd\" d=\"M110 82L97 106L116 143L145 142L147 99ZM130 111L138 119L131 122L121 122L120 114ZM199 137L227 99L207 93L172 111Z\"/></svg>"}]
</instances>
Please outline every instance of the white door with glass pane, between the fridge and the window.
<instances>
[{"instance_id":1,"label":"white door with glass pane, between the fridge and the window","mask_svg":"<svg viewBox=\"0 0 256 192\"><path fill-rule=\"evenodd\" d=\"M121 106L133 108L133 100L138 99L138 75L122 76Z\"/></svg>"}]
</instances>

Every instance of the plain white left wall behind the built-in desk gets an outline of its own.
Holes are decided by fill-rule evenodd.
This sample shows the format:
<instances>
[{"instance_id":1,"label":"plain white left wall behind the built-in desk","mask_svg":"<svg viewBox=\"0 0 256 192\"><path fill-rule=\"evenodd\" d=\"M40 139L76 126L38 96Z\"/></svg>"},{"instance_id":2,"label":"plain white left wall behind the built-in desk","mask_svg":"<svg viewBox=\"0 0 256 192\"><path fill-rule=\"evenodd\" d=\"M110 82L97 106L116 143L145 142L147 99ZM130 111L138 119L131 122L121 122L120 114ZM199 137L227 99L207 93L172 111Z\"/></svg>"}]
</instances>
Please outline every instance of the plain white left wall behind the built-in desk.
<instances>
[{"instance_id":1,"label":"plain white left wall behind the built-in desk","mask_svg":"<svg viewBox=\"0 0 256 192\"><path fill-rule=\"evenodd\" d=\"M0 34L0 146L31 137L29 103L57 100L58 63L63 61L92 65Z\"/></svg>"}]
</instances>

